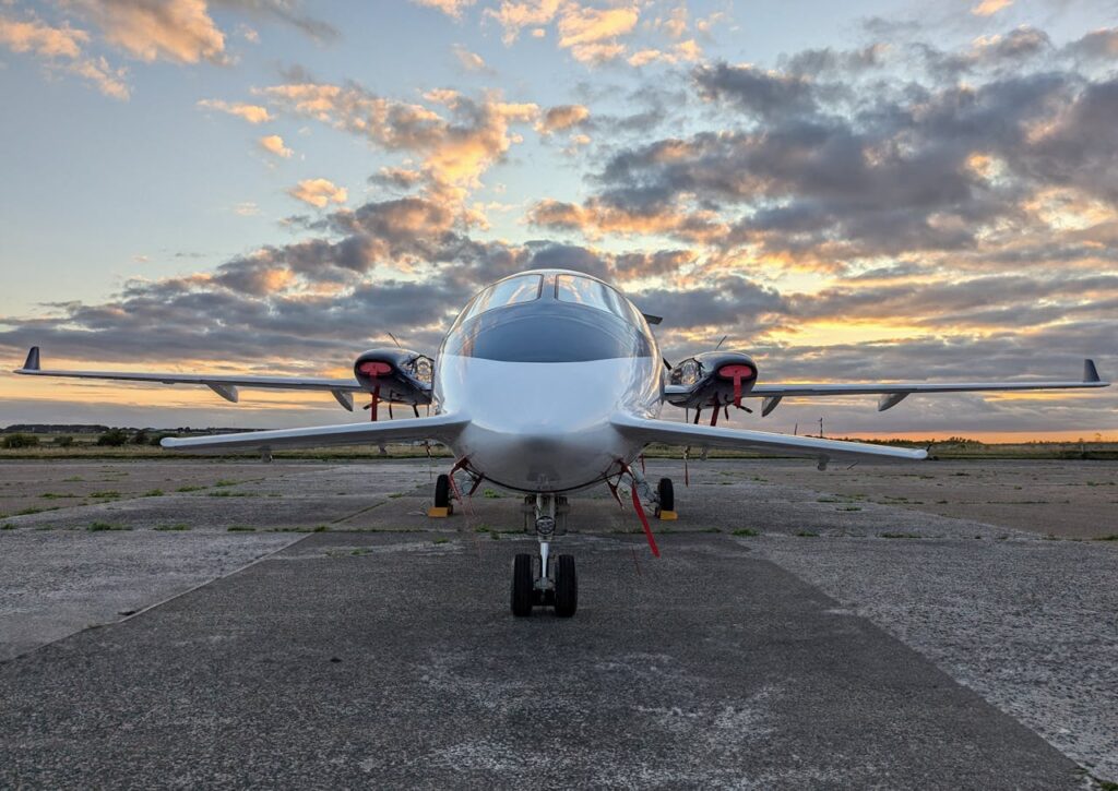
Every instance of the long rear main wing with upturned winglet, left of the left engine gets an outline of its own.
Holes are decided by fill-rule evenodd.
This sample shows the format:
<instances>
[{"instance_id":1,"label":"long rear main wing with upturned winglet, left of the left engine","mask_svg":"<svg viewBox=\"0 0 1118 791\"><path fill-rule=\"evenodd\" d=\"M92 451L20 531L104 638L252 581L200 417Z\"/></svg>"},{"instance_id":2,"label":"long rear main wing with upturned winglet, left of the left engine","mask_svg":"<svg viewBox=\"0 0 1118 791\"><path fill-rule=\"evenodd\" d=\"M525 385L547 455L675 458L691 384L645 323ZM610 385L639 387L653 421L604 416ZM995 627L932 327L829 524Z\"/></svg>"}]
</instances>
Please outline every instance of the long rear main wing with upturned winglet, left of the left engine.
<instances>
[{"instance_id":1,"label":"long rear main wing with upturned winglet, left of the left engine","mask_svg":"<svg viewBox=\"0 0 1118 791\"><path fill-rule=\"evenodd\" d=\"M342 407L353 411L351 393L363 392L356 379L321 379L315 377L229 377L214 373L141 373L136 371L51 371L41 368L39 347L32 346L27 362L13 373L28 377L64 377L69 379L110 379L125 382L160 384L205 384L227 401L237 402L238 388L266 390L318 390L333 394Z\"/></svg>"}]
</instances>

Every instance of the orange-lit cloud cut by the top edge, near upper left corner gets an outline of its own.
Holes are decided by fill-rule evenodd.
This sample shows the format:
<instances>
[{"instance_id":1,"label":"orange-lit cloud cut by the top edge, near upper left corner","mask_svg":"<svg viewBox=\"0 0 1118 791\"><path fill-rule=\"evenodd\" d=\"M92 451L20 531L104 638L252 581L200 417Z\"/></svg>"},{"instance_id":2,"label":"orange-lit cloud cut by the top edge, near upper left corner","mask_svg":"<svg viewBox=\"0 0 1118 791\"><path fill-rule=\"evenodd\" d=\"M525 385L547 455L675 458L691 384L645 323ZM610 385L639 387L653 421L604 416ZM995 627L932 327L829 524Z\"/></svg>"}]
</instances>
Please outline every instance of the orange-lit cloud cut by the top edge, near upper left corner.
<instances>
[{"instance_id":1,"label":"orange-lit cloud cut by the top edge, near upper left corner","mask_svg":"<svg viewBox=\"0 0 1118 791\"><path fill-rule=\"evenodd\" d=\"M225 34L209 16L206 0L75 0L101 27L105 39L132 57L226 64Z\"/></svg>"}]
</instances>

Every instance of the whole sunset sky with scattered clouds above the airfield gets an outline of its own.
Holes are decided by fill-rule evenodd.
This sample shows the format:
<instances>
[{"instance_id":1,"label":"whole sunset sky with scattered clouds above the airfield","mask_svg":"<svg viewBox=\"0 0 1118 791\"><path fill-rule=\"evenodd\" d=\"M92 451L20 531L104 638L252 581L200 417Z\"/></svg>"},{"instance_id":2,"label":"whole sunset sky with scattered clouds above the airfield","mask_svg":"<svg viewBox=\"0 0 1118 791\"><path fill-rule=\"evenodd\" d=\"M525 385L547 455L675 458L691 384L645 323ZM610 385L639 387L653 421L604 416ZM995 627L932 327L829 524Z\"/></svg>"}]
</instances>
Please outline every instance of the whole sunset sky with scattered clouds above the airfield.
<instances>
[{"instance_id":1,"label":"whole sunset sky with scattered clouds above the airfield","mask_svg":"<svg viewBox=\"0 0 1118 791\"><path fill-rule=\"evenodd\" d=\"M0 426L361 420L505 275L604 277L760 380L1118 371L1118 0L0 0ZM666 407L665 409L672 409ZM1118 391L731 425L1118 440Z\"/></svg>"}]
</instances>

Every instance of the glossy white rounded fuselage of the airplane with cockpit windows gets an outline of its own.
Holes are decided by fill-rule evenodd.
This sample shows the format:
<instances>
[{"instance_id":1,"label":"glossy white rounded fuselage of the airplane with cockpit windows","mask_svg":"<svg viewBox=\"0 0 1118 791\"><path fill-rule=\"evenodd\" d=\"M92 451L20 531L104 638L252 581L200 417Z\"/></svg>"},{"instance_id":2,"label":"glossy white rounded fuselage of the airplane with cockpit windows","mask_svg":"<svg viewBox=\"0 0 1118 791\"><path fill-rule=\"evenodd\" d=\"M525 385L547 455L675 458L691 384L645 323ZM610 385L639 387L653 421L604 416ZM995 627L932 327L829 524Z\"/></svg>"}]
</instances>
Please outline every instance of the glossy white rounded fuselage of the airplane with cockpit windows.
<instances>
[{"instance_id":1,"label":"glossy white rounded fuselage of the airplane with cockpit windows","mask_svg":"<svg viewBox=\"0 0 1118 791\"><path fill-rule=\"evenodd\" d=\"M468 417L451 449L502 488L595 486L620 474L644 445L610 419L660 414L656 339L641 312L599 280L563 270L520 277L539 279L534 297L475 312L483 292L447 333L436 356L436 411ZM572 301L578 296L595 302Z\"/></svg>"}]
</instances>

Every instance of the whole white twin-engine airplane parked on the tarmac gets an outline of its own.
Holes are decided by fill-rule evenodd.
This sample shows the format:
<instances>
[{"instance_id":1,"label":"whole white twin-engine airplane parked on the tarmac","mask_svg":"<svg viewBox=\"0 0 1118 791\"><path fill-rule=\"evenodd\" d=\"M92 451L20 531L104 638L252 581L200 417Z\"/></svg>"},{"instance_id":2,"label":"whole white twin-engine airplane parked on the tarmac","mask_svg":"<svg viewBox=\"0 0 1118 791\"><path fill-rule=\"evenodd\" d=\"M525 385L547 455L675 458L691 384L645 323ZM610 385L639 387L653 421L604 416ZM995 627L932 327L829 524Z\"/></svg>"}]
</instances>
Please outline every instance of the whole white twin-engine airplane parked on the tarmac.
<instances>
[{"instance_id":1,"label":"whole white twin-engine airplane parked on the tarmac","mask_svg":"<svg viewBox=\"0 0 1118 791\"><path fill-rule=\"evenodd\" d=\"M917 393L1105 388L1095 363L1086 360L1081 381L767 383L740 351L695 354L672 365L661 356L643 314L606 282L568 269L533 269L487 286L471 299L447 331L434 359L397 347L359 355L353 379L283 378L112 371L57 371L41 368L31 349L18 374L108 379L164 384L203 384L236 402L239 388L315 390L333 394L353 411L353 394L367 393L371 420L361 423L248 431L162 440L171 450L220 452L399 441L442 442L454 455L449 473L435 484L433 516L446 515L452 499L464 502L455 480L462 471L473 488L487 480L524 498L525 532L537 554L518 553L512 563L510 607L530 616L537 607L569 618L578 607L575 557L553 555L553 540L566 533L568 495L605 485L620 504L628 482L633 508L652 553L660 555L642 502L661 518L675 517L674 489L662 478L655 489L637 460L650 444L705 451L730 448L815 458L916 461L927 451L862 442L729 429L718 425L729 408L761 417L785 398L875 394L878 409L892 409ZM395 340L395 337L394 337ZM411 407L414 417L378 420L378 404ZM661 419L664 404L685 410L685 421ZM427 417L419 407L427 407ZM693 420L690 411L694 412ZM700 423L703 410L709 423Z\"/></svg>"}]
</instances>

